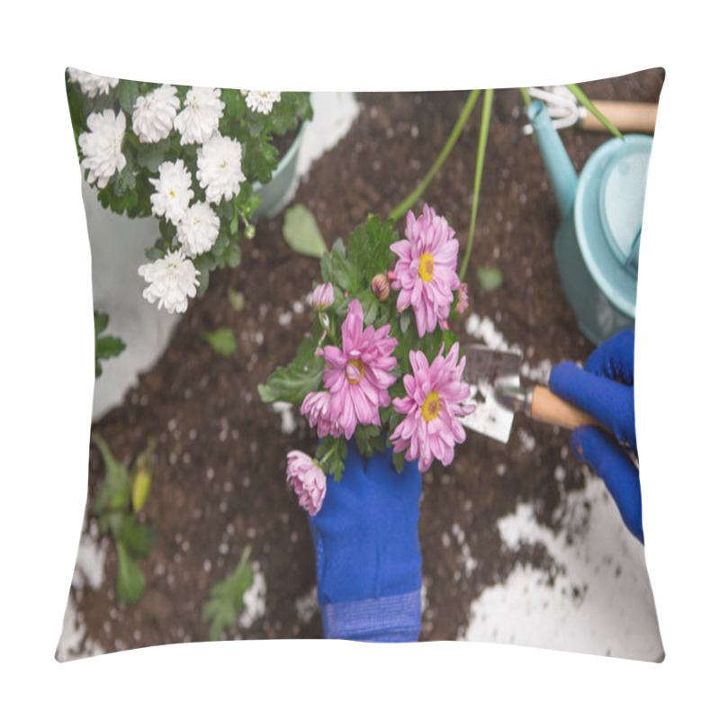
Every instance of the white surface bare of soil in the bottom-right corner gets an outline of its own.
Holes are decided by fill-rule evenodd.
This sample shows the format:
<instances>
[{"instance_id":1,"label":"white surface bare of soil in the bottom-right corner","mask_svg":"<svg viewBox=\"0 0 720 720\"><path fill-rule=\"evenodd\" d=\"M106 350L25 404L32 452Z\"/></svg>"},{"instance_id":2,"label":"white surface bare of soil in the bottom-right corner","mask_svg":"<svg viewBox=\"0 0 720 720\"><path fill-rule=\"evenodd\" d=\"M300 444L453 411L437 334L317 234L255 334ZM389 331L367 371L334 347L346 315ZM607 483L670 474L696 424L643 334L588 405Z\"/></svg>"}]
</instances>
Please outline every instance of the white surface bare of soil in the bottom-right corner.
<instances>
[{"instance_id":1,"label":"white surface bare of soil in the bottom-right corner","mask_svg":"<svg viewBox=\"0 0 720 720\"><path fill-rule=\"evenodd\" d=\"M537 522L527 503L500 519L510 550L521 543L545 547L554 582L550 572L518 564L507 581L473 601L464 640L662 658L644 547L627 531L605 483L590 472L586 477L586 489L566 496L557 534Z\"/></svg>"}]
</instances>

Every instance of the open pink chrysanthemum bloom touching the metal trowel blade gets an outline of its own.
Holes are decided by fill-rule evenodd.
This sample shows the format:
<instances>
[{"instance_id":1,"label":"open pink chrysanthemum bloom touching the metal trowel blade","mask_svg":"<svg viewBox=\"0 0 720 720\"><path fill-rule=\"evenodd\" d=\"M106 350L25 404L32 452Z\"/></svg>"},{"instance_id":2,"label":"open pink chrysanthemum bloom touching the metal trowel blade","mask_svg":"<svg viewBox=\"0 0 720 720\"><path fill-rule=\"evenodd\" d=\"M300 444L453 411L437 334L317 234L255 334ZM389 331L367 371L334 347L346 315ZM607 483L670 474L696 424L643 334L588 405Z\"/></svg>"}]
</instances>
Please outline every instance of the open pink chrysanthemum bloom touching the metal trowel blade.
<instances>
[{"instance_id":1,"label":"open pink chrysanthemum bloom touching the metal trowel blade","mask_svg":"<svg viewBox=\"0 0 720 720\"><path fill-rule=\"evenodd\" d=\"M437 458L449 465L455 456L455 444L462 443L465 431L459 417L473 412L473 405L464 404L470 397L470 387L462 380L465 358L460 363L457 343L447 357L441 350L433 364L418 350L410 350L413 374L405 375L403 384L408 393L395 398L392 404L405 419L390 438L396 453L405 453L406 460L419 458L419 470L424 473Z\"/></svg>"}]
</instances>

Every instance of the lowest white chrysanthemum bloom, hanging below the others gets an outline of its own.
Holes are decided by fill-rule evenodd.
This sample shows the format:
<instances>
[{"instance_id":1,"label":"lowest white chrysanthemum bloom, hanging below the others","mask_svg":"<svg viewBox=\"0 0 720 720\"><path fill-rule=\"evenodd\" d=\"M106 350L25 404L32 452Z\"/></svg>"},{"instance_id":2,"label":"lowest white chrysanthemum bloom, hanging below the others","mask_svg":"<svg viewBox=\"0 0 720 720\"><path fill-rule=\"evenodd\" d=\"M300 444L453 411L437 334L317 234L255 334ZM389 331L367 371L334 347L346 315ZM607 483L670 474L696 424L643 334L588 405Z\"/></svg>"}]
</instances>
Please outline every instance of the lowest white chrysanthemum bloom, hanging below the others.
<instances>
[{"instance_id":1,"label":"lowest white chrysanthemum bloom, hanging below the others","mask_svg":"<svg viewBox=\"0 0 720 720\"><path fill-rule=\"evenodd\" d=\"M197 279L200 271L182 250L174 250L154 263L139 266L138 274L149 283L142 296L151 304L157 302L157 310L164 307L171 315L187 310L187 299L195 296L195 288L200 284Z\"/></svg>"}]
</instances>

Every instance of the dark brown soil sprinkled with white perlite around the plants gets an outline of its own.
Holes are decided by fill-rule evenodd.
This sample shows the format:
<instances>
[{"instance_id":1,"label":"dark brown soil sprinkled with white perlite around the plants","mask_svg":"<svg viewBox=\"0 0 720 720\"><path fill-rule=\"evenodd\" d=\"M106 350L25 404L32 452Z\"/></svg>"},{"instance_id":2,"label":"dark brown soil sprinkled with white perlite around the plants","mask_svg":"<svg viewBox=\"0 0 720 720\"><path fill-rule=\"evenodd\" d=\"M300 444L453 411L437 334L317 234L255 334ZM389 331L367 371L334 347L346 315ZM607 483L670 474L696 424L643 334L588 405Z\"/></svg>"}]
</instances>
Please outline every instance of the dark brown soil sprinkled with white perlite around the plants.
<instances>
[{"instance_id":1,"label":"dark brown soil sprinkled with white perlite around the plants","mask_svg":"<svg viewBox=\"0 0 720 720\"><path fill-rule=\"evenodd\" d=\"M661 69L583 85L595 99L658 100ZM368 213L387 217L437 158L467 93L358 94L358 119L338 145L311 167L295 202L315 213L331 245ZM517 90L495 94L490 140L482 176L478 229L471 268L470 309L489 318L510 344L523 348L533 366L565 359L583 361L592 350L566 302L553 255L559 213L545 166L532 139L522 135L524 115ZM467 238L481 105L475 107L445 166L416 204L430 203ZM608 139L577 128L562 138L576 168ZM148 579L134 607L115 597L116 557L107 545L103 584L70 592L85 624L85 652L204 641L202 606L211 586L236 567L245 545L266 583L265 613L224 637L319 638L320 615L299 611L311 599L315 571L305 512L284 482L285 455L313 453L316 438L297 410L296 427L281 432L281 415L260 401L256 387L275 365L285 364L308 329L305 298L320 280L319 263L299 257L284 243L282 215L257 224L243 246L241 266L211 276L208 292L190 303L166 354L122 406L92 431L112 453L130 463L155 438L153 484L142 517L155 523L157 542L140 567ZM404 222L398 224L400 232ZM485 292L475 269L502 272L500 288ZM245 298L233 310L229 291ZM204 333L231 327L238 349L229 358L211 350ZM464 321L453 329L473 341ZM112 361L111 361L112 362ZM535 445L525 440L532 432ZM509 552L497 527L518 502L531 503L538 522L558 530L560 503L554 468L565 463L564 491L584 477L569 454L568 435L518 417L509 444L471 435L457 448L450 468L434 464L424 475L419 536L427 595L420 639L451 640L464 634L469 608L482 591L508 577L516 563L547 568L538 546ZM103 478L102 458L89 450L90 499ZM85 531L91 523L86 520ZM458 536L477 561L468 568ZM448 542L448 538L450 542Z\"/></svg>"}]
</instances>

